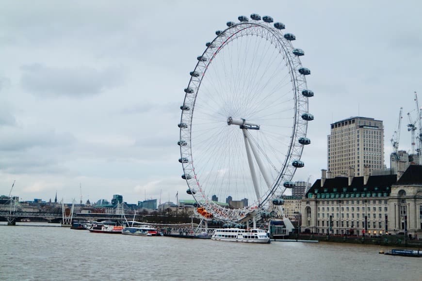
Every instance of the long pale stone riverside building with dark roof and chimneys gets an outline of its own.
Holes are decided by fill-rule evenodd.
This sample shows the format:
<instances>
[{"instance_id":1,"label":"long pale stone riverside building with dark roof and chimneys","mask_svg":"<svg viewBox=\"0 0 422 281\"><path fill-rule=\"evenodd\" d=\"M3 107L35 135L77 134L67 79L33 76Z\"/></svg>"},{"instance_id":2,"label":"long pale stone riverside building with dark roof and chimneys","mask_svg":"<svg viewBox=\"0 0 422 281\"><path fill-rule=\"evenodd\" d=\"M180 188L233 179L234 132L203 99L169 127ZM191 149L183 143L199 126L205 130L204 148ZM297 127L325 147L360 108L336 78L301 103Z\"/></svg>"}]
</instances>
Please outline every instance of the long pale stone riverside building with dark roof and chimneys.
<instances>
[{"instance_id":1,"label":"long pale stone riverside building with dark roof and chimneys","mask_svg":"<svg viewBox=\"0 0 422 281\"><path fill-rule=\"evenodd\" d=\"M353 169L350 169L353 170ZM327 178L323 170L301 203L302 232L422 235L422 166L396 174Z\"/></svg>"}]
</instances>

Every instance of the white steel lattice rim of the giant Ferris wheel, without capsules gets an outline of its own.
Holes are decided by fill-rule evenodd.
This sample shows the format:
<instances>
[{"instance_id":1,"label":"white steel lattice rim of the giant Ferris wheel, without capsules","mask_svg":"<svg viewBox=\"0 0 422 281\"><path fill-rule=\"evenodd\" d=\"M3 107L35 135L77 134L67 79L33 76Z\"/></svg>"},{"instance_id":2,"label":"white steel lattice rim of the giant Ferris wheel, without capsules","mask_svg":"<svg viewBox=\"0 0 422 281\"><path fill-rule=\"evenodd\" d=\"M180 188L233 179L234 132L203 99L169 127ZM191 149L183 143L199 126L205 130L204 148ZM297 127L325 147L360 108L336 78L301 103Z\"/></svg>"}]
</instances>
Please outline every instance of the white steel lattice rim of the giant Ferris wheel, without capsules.
<instances>
[{"instance_id":1,"label":"white steel lattice rim of the giant Ferris wheel, without capsules","mask_svg":"<svg viewBox=\"0 0 422 281\"><path fill-rule=\"evenodd\" d=\"M184 107L186 105L186 101L188 99L188 96L190 96L191 94L194 94L193 107L192 107L191 110L188 110L190 113L186 114L189 117L188 119L183 118L183 115L185 113L184 112L185 110L183 110L183 109L182 109L182 114L181 114L181 117L180 117L180 125L182 125L184 121L186 122L186 120L189 121L189 124L187 124L188 132L189 132L188 133L189 138L188 139L182 138L182 137L186 136L186 130L185 130L186 128L183 128L182 126L180 126L180 135L179 135L179 137L180 137L179 141L180 142L181 141L187 141L188 142L186 144L186 147L183 147L182 145L180 145L180 159L183 159L181 161L181 163L182 163L184 175L186 175L187 172L192 172L193 174L191 176L193 178L195 178L195 181L193 181L192 178L189 178L189 179L185 178L187 185L188 185L188 188L189 188L188 190L193 191L195 188L197 188L198 192L201 193L202 201L198 200L198 198L199 198L198 196L195 196L195 194L192 194L195 201L197 203L199 203L201 206L205 206L210 212L216 212L217 215L218 215L218 212L223 212L223 213L226 212L226 209L224 207L218 205L217 203L212 202L208 198L208 196L203 194L202 187L201 187L200 183L198 182L198 180L196 180L197 175L196 175L196 172L195 172L195 166L193 164L193 160L194 160L193 157L194 156L193 156L193 153L192 153L192 126L191 125L192 125L192 120L194 118L194 109L195 109L196 97L197 97L197 94L198 94L199 89L201 87L202 79L204 78L204 76L206 76L206 72L208 70L208 67L210 66L214 57L221 51L221 49L223 49L228 43L230 43L230 41L235 40L239 37L239 36L238 37L233 37L233 36L236 35L237 33L239 33L240 30L236 31L234 33L231 33L231 36L227 40L225 40L223 42L223 44L221 44L218 47L218 51L213 54L212 58L208 59L208 58L205 58L204 56L206 56L209 53L209 50L212 48L211 47L212 44L218 42L218 39L221 39L224 36L227 37L227 33L229 33L229 31L235 30L236 28L239 28L239 27L244 27L244 29L246 29L246 28L257 28L257 29L266 30L268 32L268 36L271 34L273 36L272 39L278 39L280 52L281 52L281 49L282 49L282 51L284 52L286 60L290 64L289 69L292 70L291 71L292 85L293 85L294 96L295 96L295 106L294 106L295 114L294 114L294 122L293 122L293 128L292 128L292 133L291 133L292 137L291 137L291 143L289 145L289 151L287 152L287 156L285 157L282 170L279 172L279 174L276 178L276 181L274 182L274 184L271 187L271 190L269 190L265 194L265 196L263 196L263 201L259 205L256 206L257 208L260 208L265 203L267 203L269 198L271 196L273 196L276 193L277 190L278 190L278 193L284 192L285 188L282 189L282 187L280 187L280 181L282 181L285 178L285 175L286 175L287 172L288 172L290 179L292 178L292 176L294 175L294 172L296 171L296 167L293 167L290 163L292 161L292 157L294 155L296 160L300 160L301 155L302 155L302 151L303 151L303 145L299 145L299 143L297 142L297 139L299 137L298 136L299 125L301 125L301 127L302 127L301 128L301 136L302 137L306 137L307 127L308 127L307 122L301 123L301 119L300 119L300 116L298 114L299 112L308 112L308 99L306 98L306 99L301 100L301 103L302 103L301 106L304 109L299 110L299 108L298 108L299 105L297 105L299 97L301 96L300 93L298 93L299 87L297 86L298 82L297 82L296 76L299 75L299 73L297 72L297 69L298 69L297 66L302 66L302 64L300 62L300 59L297 57L297 58L295 58L296 59L295 63L297 64L296 67L293 65L292 57L294 57L294 56L291 53L291 50L293 49L293 47L292 47L292 44L290 43L290 41L282 40L282 37L280 36L280 35L282 35L282 32L276 30L275 28L272 28L267 23L260 22L260 21L251 21L251 22L242 22L241 21L239 23L236 23L236 24L229 26L224 31L221 31L221 33L218 34L210 42L211 43L210 46L207 46L205 51L202 53L202 55L197 58L198 62L196 63L195 68L193 70L194 75L191 75L191 78L190 78L189 83L188 83L188 87L185 89L186 94L185 94L185 98L184 98L184 101L183 101L183 107ZM246 35L248 35L248 34L246 34ZM253 35L258 35L258 34L253 34ZM278 35L278 38L277 38L276 35ZM244 36L244 34L240 35L240 36ZM262 35L262 38L264 38L263 35ZM268 38L266 38L266 39L268 40ZM286 46L286 45L288 45L288 46ZM214 46L214 47L216 47L216 46ZM288 47L288 48L286 49L286 47ZM290 52L289 52L289 50L290 50ZM203 59L207 59L208 62L204 63ZM198 70L200 70L200 71L198 71ZM199 76L201 76L199 79L198 79L198 76L195 76L196 72L199 74ZM307 89L305 76L302 77L302 80L303 80L302 85L304 85L304 86L302 86L301 88ZM196 82L196 84L195 84L195 82ZM193 87L193 85L194 85L194 87ZM191 93L191 90L193 90L193 93ZM186 157L186 156L188 156L188 157ZM187 159L184 159L184 158L187 158ZM289 171L287 171L287 170L289 170ZM194 184L196 186L194 186ZM239 218L242 218L243 215L249 209L250 208L242 208L242 209L236 209L235 211L227 211L228 213L231 213L231 214L225 214L224 216L225 217L231 217L231 219L239 219ZM221 217L223 217L223 215L221 215ZM228 218L228 220L230 220L230 218Z\"/></svg>"}]
</instances>

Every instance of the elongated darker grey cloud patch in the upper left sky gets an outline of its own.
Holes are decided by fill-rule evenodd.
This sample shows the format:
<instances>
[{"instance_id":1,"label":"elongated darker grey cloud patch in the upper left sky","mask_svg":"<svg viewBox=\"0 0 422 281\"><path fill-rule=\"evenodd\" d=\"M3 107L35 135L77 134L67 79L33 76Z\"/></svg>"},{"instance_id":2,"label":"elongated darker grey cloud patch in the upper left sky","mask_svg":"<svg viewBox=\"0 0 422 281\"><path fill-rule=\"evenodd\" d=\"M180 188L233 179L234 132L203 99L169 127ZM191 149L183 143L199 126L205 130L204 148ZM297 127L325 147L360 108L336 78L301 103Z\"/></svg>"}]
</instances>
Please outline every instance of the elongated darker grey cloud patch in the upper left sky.
<instances>
[{"instance_id":1,"label":"elongated darker grey cloud patch in the upper left sky","mask_svg":"<svg viewBox=\"0 0 422 281\"><path fill-rule=\"evenodd\" d=\"M53 68L42 64L24 65L22 87L40 96L83 97L95 95L122 83L122 70L90 67Z\"/></svg>"}]
</instances>

